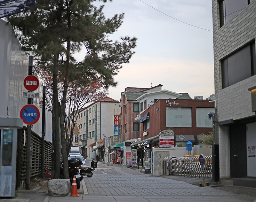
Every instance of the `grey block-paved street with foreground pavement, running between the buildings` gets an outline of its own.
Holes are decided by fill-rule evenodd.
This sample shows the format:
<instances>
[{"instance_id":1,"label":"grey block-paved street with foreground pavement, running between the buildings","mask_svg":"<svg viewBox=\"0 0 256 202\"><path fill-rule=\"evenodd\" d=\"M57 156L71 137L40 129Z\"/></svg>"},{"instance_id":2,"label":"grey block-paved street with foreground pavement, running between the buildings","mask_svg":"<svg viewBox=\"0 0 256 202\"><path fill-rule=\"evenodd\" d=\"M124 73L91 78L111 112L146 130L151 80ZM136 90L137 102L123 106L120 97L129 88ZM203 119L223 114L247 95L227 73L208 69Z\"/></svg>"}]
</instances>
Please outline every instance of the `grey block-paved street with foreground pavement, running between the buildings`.
<instances>
[{"instance_id":1,"label":"grey block-paved street with foreground pavement, running between the buildings","mask_svg":"<svg viewBox=\"0 0 256 202\"><path fill-rule=\"evenodd\" d=\"M89 163L89 162L88 162ZM253 189L254 191L256 189ZM256 201L212 187L199 187L186 181L154 177L131 168L110 167L99 162L91 178L85 177L79 197L50 197L47 190L18 192L16 198L0 198L0 202L243 202Z\"/></svg>"}]
</instances>

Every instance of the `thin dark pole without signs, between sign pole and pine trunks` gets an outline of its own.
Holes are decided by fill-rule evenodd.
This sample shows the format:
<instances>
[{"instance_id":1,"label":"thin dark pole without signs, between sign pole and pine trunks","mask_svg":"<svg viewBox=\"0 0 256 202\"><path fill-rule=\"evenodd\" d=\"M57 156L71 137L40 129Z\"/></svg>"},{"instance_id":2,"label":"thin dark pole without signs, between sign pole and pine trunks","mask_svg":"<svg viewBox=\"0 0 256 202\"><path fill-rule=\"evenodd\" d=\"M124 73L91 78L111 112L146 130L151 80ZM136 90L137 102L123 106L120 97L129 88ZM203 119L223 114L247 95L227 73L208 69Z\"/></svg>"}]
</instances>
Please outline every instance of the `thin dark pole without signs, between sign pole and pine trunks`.
<instances>
[{"instance_id":1,"label":"thin dark pole without signs, between sign pole and pine trunks","mask_svg":"<svg viewBox=\"0 0 256 202\"><path fill-rule=\"evenodd\" d=\"M43 86L42 141L41 141L41 177L44 177L44 137L45 137L45 89Z\"/></svg>"}]
</instances>

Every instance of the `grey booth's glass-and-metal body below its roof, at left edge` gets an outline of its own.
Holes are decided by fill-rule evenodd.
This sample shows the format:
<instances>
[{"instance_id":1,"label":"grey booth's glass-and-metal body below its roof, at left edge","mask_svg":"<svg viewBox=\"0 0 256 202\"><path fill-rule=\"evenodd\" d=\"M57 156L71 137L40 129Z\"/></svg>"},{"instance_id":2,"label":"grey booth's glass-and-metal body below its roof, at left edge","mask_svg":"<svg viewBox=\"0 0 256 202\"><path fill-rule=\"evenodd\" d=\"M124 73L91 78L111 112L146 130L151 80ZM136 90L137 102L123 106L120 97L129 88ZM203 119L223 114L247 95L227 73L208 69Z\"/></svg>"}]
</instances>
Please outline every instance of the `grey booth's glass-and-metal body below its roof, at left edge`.
<instances>
[{"instance_id":1,"label":"grey booth's glass-and-metal body below its roof, at left edge","mask_svg":"<svg viewBox=\"0 0 256 202\"><path fill-rule=\"evenodd\" d=\"M0 197L15 196L17 128L0 127Z\"/></svg>"}]
</instances>

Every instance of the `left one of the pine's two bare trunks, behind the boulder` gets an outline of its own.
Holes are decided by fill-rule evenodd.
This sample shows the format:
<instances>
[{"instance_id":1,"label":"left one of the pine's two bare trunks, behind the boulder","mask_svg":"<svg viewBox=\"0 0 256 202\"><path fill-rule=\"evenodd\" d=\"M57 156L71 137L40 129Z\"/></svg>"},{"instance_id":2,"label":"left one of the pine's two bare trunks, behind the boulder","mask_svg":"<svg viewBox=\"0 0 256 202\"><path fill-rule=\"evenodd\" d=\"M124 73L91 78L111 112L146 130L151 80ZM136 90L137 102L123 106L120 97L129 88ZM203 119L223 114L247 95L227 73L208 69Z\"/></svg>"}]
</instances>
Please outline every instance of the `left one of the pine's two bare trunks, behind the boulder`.
<instances>
[{"instance_id":1,"label":"left one of the pine's two bare trunks, behind the boulder","mask_svg":"<svg viewBox=\"0 0 256 202\"><path fill-rule=\"evenodd\" d=\"M54 150L54 179L60 178L60 131L59 131L59 101L58 101L58 54L53 58L52 81L52 136Z\"/></svg>"}]
</instances>

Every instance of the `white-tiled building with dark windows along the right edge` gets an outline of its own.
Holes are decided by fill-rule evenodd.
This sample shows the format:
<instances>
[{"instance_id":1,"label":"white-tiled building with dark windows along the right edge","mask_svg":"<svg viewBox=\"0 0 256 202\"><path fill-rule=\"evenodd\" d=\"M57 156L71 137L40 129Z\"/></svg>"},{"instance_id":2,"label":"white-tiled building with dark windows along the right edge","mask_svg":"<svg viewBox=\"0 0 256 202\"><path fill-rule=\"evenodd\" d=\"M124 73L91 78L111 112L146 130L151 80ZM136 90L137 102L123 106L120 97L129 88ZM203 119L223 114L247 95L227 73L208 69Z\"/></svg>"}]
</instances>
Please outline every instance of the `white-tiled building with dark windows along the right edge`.
<instances>
[{"instance_id":1,"label":"white-tiled building with dark windows along the right edge","mask_svg":"<svg viewBox=\"0 0 256 202\"><path fill-rule=\"evenodd\" d=\"M220 182L244 185L256 177L256 1L212 0L212 16Z\"/></svg>"}]
</instances>

